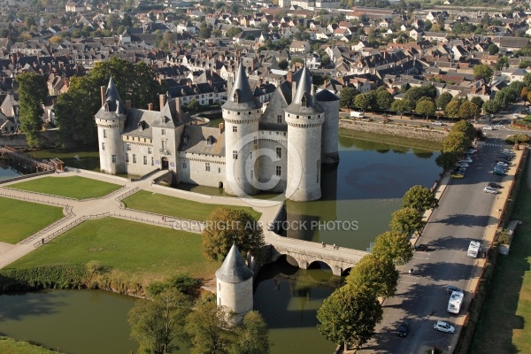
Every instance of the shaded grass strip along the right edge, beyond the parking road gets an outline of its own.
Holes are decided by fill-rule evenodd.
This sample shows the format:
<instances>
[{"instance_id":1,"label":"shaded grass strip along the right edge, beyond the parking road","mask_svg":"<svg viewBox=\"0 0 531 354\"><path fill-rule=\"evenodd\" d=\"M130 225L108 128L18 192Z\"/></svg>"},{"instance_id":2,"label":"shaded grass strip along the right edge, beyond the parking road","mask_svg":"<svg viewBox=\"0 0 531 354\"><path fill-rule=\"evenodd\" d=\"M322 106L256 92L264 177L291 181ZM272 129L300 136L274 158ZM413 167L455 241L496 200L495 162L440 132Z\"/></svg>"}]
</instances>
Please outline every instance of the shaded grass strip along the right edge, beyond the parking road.
<instances>
[{"instance_id":1,"label":"shaded grass strip along the right edge, beyond the parking road","mask_svg":"<svg viewBox=\"0 0 531 354\"><path fill-rule=\"evenodd\" d=\"M525 178L524 178L525 180ZM531 190L522 181L509 256L500 256L476 326L471 354L531 353Z\"/></svg>"}]
</instances>

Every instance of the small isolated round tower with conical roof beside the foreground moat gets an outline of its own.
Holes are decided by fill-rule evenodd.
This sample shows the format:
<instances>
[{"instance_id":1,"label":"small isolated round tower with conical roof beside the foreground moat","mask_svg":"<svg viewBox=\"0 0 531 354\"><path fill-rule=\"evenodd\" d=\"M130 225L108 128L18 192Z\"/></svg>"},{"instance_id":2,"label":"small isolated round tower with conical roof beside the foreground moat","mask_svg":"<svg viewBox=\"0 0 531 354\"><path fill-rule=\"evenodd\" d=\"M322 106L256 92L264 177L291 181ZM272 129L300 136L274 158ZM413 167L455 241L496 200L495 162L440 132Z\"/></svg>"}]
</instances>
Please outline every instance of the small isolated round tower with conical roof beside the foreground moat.
<instances>
[{"instance_id":1,"label":"small isolated round tower with conical roof beside the foreground moat","mask_svg":"<svg viewBox=\"0 0 531 354\"><path fill-rule=\"evenodd\" d=\"M252 311L253 272L245 265L235 244L216 272L216 298L218 306L235 312L235 324L242 323L247 312Z\"/></svg>"}]
</instances>

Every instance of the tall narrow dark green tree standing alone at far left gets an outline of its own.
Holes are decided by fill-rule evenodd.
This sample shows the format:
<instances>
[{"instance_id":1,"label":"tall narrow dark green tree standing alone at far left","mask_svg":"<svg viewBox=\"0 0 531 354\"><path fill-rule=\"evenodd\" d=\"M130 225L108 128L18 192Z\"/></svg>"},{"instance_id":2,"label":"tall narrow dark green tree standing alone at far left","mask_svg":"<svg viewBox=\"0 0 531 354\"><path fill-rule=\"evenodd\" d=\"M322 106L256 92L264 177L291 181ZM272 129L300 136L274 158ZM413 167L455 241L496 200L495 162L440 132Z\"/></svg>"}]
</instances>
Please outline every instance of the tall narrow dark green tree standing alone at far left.
<instances>
[{"instance_id":1,"label":"tall narrow dark green tree standing alone at far left","mask_svg":"<svg viewBox=\"0 0 531 354\"><path fill-rule=\"evenodd\" d=\"M36 148L40 145L39 133L42 130L42 102L48 95L46 82L35 73L21 73L16 80L19 83L20 128L26 135L27 145Z\"/></svg>"}]
</instances>

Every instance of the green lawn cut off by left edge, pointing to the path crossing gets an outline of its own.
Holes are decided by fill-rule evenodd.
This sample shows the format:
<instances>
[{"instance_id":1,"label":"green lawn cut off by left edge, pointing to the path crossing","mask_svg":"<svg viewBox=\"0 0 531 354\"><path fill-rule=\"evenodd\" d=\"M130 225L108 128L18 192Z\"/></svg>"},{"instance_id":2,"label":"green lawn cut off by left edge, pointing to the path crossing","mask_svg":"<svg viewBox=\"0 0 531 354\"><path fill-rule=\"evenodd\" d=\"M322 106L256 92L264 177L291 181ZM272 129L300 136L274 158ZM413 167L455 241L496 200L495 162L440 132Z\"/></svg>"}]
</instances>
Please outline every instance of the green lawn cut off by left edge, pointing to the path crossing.
<instances>
[{"instance_id":1,"label":"green lawn cut off by left edge, pointing to the path crossing","mask_svg":"<svg viewBox=\"0 0 531 354\"><path fill-rule=\"evenodd\" d=\"M63 208L0 197L0 242L15 244L63 218Z\"/></svg>"}]
</instances>

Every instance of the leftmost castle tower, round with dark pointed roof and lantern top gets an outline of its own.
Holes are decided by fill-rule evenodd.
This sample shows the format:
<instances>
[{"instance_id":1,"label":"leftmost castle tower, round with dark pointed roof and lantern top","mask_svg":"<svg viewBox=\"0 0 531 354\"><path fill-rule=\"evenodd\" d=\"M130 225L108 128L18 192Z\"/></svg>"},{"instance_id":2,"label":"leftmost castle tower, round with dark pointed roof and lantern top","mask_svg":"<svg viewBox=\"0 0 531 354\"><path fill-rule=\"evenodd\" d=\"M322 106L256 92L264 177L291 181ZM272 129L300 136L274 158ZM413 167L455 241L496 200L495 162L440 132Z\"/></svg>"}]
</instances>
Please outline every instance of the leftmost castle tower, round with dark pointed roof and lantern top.
<instances>
[{"instance_id":1,"label":"leftmost castle tower, round with dark pointed roof and lantern top","mask_svg":"<svg viewBox=\"0 0 531 354\"><path fill-rule=\"evenodd\" d=\"M126 173L126 158L121 134L124 131L126 108L112 78L107 89L101 88L102 108L96 113L100 168L104 173Z\"/></svg>"}]
</instances>

